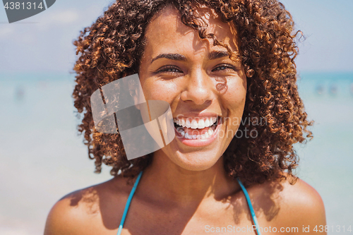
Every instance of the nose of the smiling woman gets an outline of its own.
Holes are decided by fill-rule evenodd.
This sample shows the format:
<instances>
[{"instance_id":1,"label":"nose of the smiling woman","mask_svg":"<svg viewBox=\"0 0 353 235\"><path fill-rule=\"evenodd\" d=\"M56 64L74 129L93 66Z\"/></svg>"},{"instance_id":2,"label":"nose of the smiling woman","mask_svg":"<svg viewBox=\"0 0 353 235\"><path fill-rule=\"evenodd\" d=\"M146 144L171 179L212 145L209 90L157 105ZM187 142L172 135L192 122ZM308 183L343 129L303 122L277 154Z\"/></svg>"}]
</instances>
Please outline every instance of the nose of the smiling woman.
<instances>
[{"instance_id":1,"label":"nose of the smiling woman","mask_svg":"<svg viewBox=\"0 0 353 235\"><path fill-rule=\"evenodd\" d=\"M195 104L205 104L213 100L213 82L205 71L190 73L186 87L181 92L181 100L192 101Z\"/></svg>"}]
</instances>

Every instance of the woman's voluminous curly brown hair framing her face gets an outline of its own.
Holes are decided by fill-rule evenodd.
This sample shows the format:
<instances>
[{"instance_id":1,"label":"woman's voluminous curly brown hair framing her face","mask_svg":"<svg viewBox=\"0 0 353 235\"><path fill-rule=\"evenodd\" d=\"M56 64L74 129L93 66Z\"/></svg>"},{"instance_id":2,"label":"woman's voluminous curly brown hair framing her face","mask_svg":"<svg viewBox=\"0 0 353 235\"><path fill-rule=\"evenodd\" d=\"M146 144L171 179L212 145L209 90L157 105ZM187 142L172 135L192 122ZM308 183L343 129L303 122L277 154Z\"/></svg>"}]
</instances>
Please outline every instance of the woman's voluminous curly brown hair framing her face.
<instances>
[{"instance_id":1,"label":"woman's voluminous curly brown hair framing her face","mask_svg":"<svg viewBox=\"0 0 353 235\"><path fill-rule=\"evenodd\" d=\"M304 104L297 90L294 59L300 31L294 31L292 16L276 0L117 0L90 27L80 32L74 66L76 87L74 106L83 113L78 131L84 134L90 159L100 173L102 163L112 166L111 174L134 177L152 162L152 154L128 160L121 136L95 131L90 95L113 80L138 73L145 47L148 23L166 6L174 6L181 21L201 38L206 35L195 7L214 9L224 22L236 26L241 60L247 79L246 104L239 131L258 133L256 138L234 137L224 152L224 167L229 176L246 185L294 176L299 157L294 143L312 138ZM227 47L227 49L229 49ZM80 115L78 115L80 116ZM253 123L254 120L265 123ZM294 176L294 179L297 177ZM295 182L294 182L295 183Z\"/></svg>"}]
</instances>

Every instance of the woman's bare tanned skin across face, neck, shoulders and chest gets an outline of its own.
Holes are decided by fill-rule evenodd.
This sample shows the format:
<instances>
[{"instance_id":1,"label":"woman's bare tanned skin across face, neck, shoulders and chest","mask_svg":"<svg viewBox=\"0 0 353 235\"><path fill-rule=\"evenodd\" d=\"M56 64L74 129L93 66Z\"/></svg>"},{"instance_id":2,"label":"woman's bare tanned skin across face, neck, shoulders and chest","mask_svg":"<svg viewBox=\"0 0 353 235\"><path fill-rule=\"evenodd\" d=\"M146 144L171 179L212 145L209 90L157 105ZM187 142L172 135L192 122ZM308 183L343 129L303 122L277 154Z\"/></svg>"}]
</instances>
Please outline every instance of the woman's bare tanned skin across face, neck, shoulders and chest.
<instances>
[{"instance_id":1,"label":"woman's bare tanned skin across face, neck, shoulders and chest","mask_svg":"<svg viewBox=\"0 0 353 235\"><path fill-rule=\"evenodd\" d=\"M237 52L239 42L232 25L222 23L207 8L199 9L199 13L208 22L208 32ZM173 116L211 112L227 117L232 121L220 128L235 134L239 121L233 119L241 119L246 97L246 77L239 61L227 56L208 59L210 52L225 48L201 40L181 23L173 8L165 8L152 19L146 37L139 70L146 100L169 102ZM161 53L181 54L186 61L162 58L151 64ZM226 69L225 64L236 69ZM165 66L167 71L156 73ZM227 80L222 90L217 89L220 80ZM173 140L155 152L152 164L143 172L121 234L210 234L205 230L207 225L251 227L244 194L223 167L222 153L231 140L232 135L226 135L204 147ZM49 213L44 234L116 234L131 188L126 179L116 176L66 195ZM298 227L298 231L281 234L304 234L303 225L325 225L323 201L304 181L298 180L293 186L288 181L266 181L247 191L261 227ZM305 234L320 233L311 230Z\"/></svg>"}]
</instances>

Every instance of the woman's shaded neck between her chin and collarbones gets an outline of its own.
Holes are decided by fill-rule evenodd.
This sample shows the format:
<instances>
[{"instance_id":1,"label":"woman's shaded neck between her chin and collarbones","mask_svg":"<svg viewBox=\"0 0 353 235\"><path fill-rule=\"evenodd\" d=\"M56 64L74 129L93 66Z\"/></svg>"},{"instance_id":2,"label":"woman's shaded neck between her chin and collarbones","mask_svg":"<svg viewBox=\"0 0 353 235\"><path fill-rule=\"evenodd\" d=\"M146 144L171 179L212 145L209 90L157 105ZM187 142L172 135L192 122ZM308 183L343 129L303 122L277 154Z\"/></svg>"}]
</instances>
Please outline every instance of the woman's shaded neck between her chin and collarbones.
<instances>
[{"instance_id":1,"label":"woman's shaded neck between her chin and collarbones","mask_svg":"<svg viewBox=\"0 0 353 235\"><path fill-rule=\"evenodd\" d=\"M179 167L166 155L155 152L152 164L143 173L144 191L152 200L191 205L201 200L222 200L239 189L223 167L223 157L201 171Z\"/></svg>"}]
</instances>

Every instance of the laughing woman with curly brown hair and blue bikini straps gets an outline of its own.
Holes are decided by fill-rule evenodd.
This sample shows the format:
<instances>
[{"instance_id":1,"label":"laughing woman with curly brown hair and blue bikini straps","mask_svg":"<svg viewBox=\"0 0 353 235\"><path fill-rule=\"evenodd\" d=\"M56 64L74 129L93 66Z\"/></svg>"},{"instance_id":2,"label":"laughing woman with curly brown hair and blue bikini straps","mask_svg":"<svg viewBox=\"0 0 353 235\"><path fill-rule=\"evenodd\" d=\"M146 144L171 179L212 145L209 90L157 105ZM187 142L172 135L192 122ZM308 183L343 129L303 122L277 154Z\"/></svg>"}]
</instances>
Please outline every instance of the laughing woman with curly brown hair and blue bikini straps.
<instances>
[{"instance_id":1,"label":"laughing woman with curly brown hair and blue bikini straps","mask_svg":"<svg viewBox=\"0 0 353 235\"><path fill-rule=\"evenodd\" d=\"M116 1L74 43L73 92L96 171L114 178L59 200L44 234L325 234L320 195L292 173L311 137L293 30L274 0ZM128 161L119 133L95 131L90 95L134 73L176 138Z\"/></svg>"}]
</instances>

